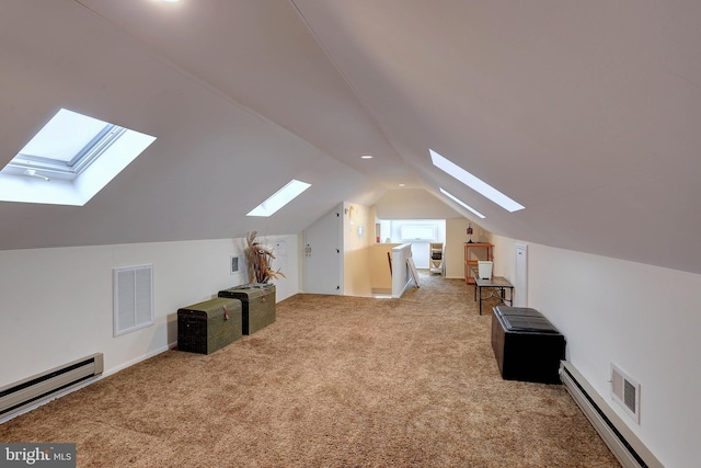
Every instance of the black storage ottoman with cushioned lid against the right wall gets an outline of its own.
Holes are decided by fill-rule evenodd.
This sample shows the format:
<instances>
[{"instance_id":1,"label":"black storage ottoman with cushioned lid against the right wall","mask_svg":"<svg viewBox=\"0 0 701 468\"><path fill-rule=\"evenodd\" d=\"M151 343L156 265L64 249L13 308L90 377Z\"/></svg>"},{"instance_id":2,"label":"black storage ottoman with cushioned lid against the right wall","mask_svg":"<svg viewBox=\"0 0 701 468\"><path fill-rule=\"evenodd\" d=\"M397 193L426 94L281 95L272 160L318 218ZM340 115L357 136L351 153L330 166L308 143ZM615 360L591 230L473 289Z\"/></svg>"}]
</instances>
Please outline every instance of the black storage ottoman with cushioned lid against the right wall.
<instances>
[{"instance_id":1,"label":"black storage ottoman with cushioned lid against the right wall","mask_svg":"<svg viewBox=\"0 0 701 468\"><path fill-rule=\"evenodd\" d=\"M561 384L565 339L542 313L524 307L494 307L492 349L506 380Z\"/></svg>"}]
</instances>

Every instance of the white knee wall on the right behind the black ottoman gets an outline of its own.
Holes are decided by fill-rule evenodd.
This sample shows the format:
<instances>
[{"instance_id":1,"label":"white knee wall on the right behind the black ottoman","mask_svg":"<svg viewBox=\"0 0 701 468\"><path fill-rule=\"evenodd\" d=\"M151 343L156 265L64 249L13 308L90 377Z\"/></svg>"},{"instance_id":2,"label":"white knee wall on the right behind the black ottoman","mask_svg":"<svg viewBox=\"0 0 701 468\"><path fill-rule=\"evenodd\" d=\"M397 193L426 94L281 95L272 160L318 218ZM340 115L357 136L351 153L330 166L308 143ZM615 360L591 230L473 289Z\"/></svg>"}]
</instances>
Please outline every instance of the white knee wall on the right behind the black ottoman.
<instances>
[{"instance_id":1,"label":"white knee wall on the right behind the black ottoman","mask_svg":"<svg viewBox=\"0 0 701 468\"><path fill-rule=\"evenodd\" d=\"M515 241L493 241L495 273L514 279ZM668 467L701 459L700 290L701 275L528 244L528 307L562 331L567 359L624 421L611 363L641 384L641 422L629 425Z\"/></svg>"}]
</instances>

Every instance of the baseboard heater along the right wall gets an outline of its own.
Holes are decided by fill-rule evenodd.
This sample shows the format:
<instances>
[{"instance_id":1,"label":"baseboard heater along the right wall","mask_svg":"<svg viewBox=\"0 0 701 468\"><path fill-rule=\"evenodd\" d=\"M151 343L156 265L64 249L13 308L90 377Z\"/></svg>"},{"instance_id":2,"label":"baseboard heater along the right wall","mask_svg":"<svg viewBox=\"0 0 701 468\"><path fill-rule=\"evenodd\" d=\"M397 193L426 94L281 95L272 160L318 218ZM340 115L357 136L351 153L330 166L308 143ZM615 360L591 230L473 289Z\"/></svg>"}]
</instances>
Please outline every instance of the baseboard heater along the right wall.
<instances>
[{"instance_id":1,"label":"baseboard heater along the right wall","mask_svg":"<svg viewBox=\"0 0 701 468\"><path fill-rule=\"evenodd\" d=\"M664 468L572 363L561 362L560 379L624 468Z\"/></svg>"}]
</instances>

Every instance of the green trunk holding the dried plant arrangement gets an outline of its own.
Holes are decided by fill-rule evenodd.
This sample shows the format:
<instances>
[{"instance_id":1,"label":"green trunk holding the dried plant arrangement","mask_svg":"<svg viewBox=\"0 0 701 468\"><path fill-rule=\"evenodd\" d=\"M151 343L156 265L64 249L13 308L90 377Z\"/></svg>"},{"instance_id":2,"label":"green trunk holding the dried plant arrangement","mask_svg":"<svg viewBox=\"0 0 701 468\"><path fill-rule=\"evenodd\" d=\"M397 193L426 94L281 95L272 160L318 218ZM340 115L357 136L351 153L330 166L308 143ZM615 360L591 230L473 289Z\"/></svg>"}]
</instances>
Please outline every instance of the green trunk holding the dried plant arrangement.
<instances>
[{"instance_id":1,"label":"green trunk holding the dried plant arrangement","mask_svg":"<svg viewBox=\"0 0 701 468\"><path fill-rule=\"evenodd\" d=\"M241 300L243 334L256 331L275 322L275 285L251 283L219 292L219 297Z\"/></svg>"}]
</instances>

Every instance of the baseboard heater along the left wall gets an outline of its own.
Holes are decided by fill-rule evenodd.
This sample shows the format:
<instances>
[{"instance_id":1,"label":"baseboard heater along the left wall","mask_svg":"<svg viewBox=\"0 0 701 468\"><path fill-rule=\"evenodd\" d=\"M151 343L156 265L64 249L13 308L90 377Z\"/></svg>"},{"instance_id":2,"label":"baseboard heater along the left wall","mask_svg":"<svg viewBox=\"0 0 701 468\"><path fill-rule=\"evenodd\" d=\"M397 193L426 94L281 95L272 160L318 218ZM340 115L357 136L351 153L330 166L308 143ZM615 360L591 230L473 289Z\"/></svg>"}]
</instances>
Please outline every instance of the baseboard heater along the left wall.
<instances>
[{"instance_id":1,"label":"baseboard heater along the left wall","mask_svg":"<svg viewBox=\"0 0 701 468\"><path fill-rule=\"evenodd\" d=\"M102 374L102 353L92 354L0 388L0 421L85 385Z\"/></svg>"}]
</instances>

